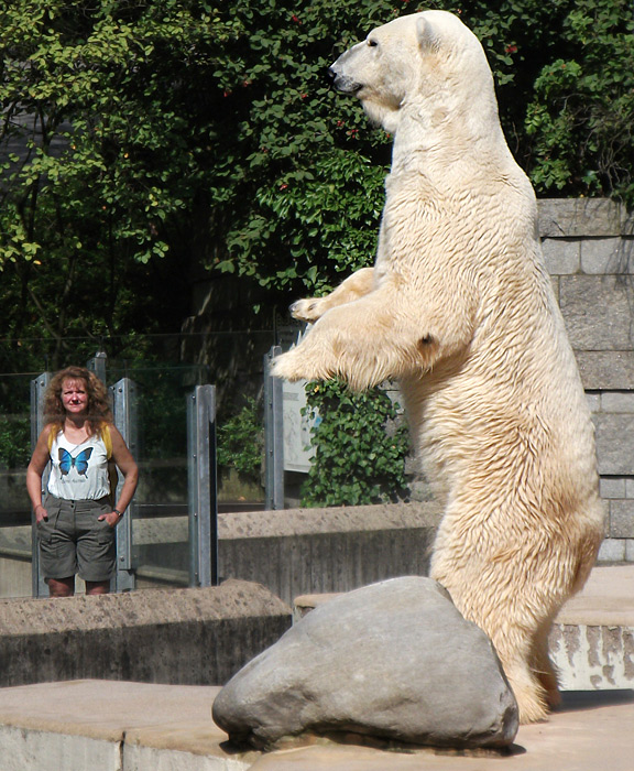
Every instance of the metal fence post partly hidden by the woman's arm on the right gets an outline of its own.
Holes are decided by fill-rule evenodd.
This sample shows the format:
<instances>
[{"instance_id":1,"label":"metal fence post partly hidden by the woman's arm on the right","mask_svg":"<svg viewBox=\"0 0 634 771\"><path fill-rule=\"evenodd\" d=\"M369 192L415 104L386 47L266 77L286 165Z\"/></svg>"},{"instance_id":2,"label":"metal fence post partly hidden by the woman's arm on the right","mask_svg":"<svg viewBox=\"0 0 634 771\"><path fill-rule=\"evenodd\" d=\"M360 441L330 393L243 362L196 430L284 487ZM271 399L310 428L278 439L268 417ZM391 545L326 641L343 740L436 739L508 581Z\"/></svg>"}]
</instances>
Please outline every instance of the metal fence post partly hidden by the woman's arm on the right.
<instances>
[{"instance_id":1,"label":"metal fence post partly hidden by the woman's arm on the right","mask_svg":"<svg viewBox=\"0 0 634 771\"><path fill-rule=\"evenodd\" d=\"M112 411L114 425L121 432L125 444L133 457L138 459L139 449L139 411L136 384L130 378L121 378L110 387L112 394ZM117 485L118 498L123 481ZM112 501L112 506L116 501ZM125 515L117 525L117 591L129 591L134 588L134 571L132 566L132 520L136 511L134 500L130 503Z\"/></svg>"}]
</instances>

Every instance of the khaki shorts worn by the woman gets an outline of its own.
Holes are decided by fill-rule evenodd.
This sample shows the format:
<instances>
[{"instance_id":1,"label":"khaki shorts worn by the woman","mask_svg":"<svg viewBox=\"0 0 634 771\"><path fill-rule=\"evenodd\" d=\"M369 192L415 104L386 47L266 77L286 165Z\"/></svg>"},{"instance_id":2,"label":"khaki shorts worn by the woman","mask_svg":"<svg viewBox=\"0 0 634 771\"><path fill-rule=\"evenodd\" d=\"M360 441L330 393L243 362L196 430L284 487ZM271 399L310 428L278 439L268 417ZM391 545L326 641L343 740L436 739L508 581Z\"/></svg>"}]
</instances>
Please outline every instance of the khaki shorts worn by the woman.
<instances>
[{"instance_id":1,"label":"khaki shorts worn by the woman","mask_svg":"<svg viewBox=\"0 0 634 771\"><path fill-rule=\"evenodd\" d=\"M37 523L37 537L44 577L109 580L117 557L114 528L97 519L112 511L109 499L69 501L48 493L43 506L48 520Z\"/></svg>"}]
</instances>

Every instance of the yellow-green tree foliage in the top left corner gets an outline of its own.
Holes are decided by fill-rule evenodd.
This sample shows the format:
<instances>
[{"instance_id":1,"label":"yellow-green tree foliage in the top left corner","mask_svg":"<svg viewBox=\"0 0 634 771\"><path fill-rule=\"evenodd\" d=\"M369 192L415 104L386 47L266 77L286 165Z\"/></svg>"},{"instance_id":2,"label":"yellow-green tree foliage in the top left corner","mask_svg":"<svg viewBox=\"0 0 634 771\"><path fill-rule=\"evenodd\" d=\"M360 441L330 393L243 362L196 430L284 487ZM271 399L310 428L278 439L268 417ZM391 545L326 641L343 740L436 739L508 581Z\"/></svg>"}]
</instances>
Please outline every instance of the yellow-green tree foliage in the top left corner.
<instances>
[{"instance_id":1,"label":"yellow-green tree foliage in the top left corner","mask_svg":"<svg viewBox=\"0 0 634 771\"><path fill-rule=\"evenodd\" d=\"M190 121L205 3L17 0L2 11L2 130L25 148L3 165L2 259L99 257L112 245L147 262L162 225L190 205ZM10 216L11 215L11 216Z\"/></svg>"}]
</instances>

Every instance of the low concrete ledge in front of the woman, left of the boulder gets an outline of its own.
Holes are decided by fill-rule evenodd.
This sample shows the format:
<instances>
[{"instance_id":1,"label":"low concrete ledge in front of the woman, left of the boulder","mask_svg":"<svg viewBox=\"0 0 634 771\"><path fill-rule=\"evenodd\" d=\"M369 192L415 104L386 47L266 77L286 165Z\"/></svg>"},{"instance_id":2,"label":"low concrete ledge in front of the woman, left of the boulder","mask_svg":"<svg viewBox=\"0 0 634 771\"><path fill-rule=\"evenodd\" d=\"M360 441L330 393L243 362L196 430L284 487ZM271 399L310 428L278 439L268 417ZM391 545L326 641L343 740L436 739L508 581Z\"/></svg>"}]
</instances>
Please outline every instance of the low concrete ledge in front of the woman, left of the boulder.
<instances>
[{"instance_id":1,"label":"low concrete ledge in front of the woman, left of the boulder","mask_svg":"<svg viewBox=\"0 0 634 771\"><path fill-rule=\"evenodd\" d=\"M90 677L222 684L291 626L287 605L240 580L0 608L2 686Z\"/></svg>"}]
</instances>

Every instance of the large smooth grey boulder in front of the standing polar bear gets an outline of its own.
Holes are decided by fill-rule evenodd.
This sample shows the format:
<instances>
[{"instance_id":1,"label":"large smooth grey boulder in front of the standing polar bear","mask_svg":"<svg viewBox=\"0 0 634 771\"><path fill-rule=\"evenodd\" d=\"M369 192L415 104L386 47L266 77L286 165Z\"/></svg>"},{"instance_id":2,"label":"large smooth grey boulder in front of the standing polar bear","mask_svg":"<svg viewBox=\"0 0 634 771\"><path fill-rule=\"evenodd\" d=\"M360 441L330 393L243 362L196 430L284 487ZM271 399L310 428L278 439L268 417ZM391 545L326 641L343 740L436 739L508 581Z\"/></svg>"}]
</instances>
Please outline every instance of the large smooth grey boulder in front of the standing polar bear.
<instances>
[{"instance_id":1,"label":"large smooth grey boulder in front of the standing polar bear","mask_svg":"<svg viewBox=\"0 0 634 771\"><path fill-rule=\"evenodd\" d=\"M418 576L350 591L309 612L227 683L214 719L271 749L302 734L437 747L505 747L517 705L491 641Z\"/></svg>"}]
</instances>

